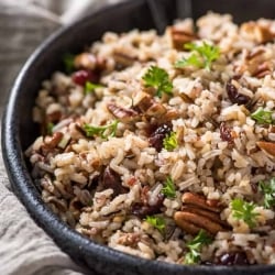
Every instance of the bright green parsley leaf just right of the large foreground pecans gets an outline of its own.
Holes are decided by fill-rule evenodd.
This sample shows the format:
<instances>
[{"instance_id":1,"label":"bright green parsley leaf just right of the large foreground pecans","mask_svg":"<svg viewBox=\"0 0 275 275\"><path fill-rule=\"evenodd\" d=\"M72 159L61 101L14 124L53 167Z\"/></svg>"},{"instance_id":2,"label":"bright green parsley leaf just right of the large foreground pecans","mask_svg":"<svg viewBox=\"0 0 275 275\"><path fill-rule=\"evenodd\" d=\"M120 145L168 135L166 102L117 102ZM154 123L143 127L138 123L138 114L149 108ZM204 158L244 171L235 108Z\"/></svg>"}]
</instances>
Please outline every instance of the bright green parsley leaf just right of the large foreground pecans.
<instances>
[{"instance_id":1,"label":"bright green parsley leaf just right of the large foreground pecans","mask_svg":"<svg viewBox=\"0 0 275 275\"><path fill-rule=\"evenodd\" d=\"M250 228L256 226L256 217L260 215L255 212L253 202L244 201L243 199L233 199L231 201L232 215L238 220L243 220Z\"/></svg>"}]
</instances>

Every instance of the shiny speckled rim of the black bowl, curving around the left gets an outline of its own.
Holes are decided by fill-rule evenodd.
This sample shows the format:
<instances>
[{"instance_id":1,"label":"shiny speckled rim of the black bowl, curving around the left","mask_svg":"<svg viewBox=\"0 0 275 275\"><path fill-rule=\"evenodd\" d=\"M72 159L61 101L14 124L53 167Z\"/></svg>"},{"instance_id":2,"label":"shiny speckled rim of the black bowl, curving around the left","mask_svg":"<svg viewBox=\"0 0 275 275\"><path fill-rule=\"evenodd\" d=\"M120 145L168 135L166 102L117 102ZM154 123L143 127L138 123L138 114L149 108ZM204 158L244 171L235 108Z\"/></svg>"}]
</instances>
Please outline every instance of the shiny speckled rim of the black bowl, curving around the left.
<instances>
[{"instance_id":1,"label":"shiny speckled rim of the black bowl, curving around the left","mask_svg":"<svg viewBox=\"0 0 275 275\"><path fill-rule=\"evenodd\" d=\"M51 237L51 239L54 239L54 241L58 243L57 245L69 255L70 252L68 252L68 250L74 250L74 253L77 251L80 256L86 255L91 257L91 262L92 257L105 258L105 261L108 263L118 266L123 261L123 264L125 265L123 268L132 266L135 266L136 268L138 264L140 266L138 267L140 271L162 271L167 272L168 274L184 274L185 272L194 272L194 274L232 274L232 272L240 274L252 272L253 274L258 274L266 272L268 274L274 274L274 265L179 265L133 256L112 248L101 245L76 232L74 229L65 224L57 216L55 216L42 201L41 196L33 184L30 172L25 165L23 150L19 140L20 116L15 111L19 103L19 94L21 87L24 85L25 78L33 64L35 64L41 58L41 56L43 56L44 52L50 45L56 43L56 41L62 38L64 35L67 35L72 29L77 29L84 23L97 20L97 18L101 16L102 13L108 13L113 9L142 3L145 3L145 0L122 1L119 3L101 7L100 9L92 11L89 15L86 15L74 23L62 26L55 31L41 45L38 45L33 54L31 54L31 56L28 58L11 88L9 101L6 106L1 122L2 156L13 191L24 205L31 217L35 220L36 224L38 224L38 227L41 227ZM64 245L61 245L61 243L64 243ZM72 258L74 260L74 256L72 256Z\"/></svg>"}]
</instances>

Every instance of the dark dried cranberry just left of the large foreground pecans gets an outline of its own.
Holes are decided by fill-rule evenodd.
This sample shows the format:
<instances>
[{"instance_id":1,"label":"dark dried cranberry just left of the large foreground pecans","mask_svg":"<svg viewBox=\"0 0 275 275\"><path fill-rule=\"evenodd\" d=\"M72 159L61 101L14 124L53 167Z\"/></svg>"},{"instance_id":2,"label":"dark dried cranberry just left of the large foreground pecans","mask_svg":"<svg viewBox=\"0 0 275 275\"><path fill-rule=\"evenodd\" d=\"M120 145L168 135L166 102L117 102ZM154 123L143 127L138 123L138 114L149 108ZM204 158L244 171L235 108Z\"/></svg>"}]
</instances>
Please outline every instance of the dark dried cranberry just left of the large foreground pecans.
<instances>
[{"instance_id":1,"label":"dark dried cranberry just left of the large foreground pecans","mask_svg":"<svg viewBox=\"0 0 275 275\"><path fill-rule=\"evenodd\" d=\"M161 212L163 206L164 196L158 194L155 205L151 206L144 202L135 202L132 205L131 212L138 216L140 219L144 219L146 216L155 215Z\"/></svg>"}]
</instances>

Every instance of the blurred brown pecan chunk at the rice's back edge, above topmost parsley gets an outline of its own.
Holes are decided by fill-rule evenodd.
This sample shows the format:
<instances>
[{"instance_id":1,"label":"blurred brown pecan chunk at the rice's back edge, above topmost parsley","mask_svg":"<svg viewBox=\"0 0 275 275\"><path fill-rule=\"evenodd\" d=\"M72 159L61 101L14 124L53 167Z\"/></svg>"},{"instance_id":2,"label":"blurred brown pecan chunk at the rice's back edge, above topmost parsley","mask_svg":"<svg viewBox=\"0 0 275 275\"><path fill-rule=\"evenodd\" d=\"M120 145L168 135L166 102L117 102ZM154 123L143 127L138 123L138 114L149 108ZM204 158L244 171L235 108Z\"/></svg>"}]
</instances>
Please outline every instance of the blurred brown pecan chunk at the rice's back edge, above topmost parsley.
<instances>
[{"instance_id":1,"label":"blurred brown pecan chunk at the rice's back edge, above topmost parsley","mask_svg":"<svg viewBox=\"0 0 275 275\"><path fill-rule=\"evenodd\" d=\"M197 38L195 33L188 30L182 30L176 26L169 28L169 34L173 47L178 51L184 51L184 44L189 43Z\"/></svg>"}]
</instances>

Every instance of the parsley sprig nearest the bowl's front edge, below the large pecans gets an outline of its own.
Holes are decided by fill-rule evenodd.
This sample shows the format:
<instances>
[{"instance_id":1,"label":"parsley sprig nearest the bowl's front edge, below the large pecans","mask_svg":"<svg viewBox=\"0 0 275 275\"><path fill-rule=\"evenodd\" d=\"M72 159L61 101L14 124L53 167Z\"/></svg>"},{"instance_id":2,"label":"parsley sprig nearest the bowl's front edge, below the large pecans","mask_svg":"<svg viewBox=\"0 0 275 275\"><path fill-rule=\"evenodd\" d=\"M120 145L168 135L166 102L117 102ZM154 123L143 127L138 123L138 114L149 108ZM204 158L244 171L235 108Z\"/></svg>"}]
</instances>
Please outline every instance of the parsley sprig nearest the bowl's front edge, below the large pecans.
<instances>
[{"instance_id":1,"label":"parsley sprig nearest the bowl's front edge, below the large pecans","mask_svg":"<svg viewBox=\"0 0 275 275\"><path fill-rule=\"evenodd\" d=\"M211 243L211 238L206 231L200 230L198 235L187 243L189 252L185 255L185 264L196 264L200 261L200 251L202 245Z\"/></svg>"}]
</instances>

